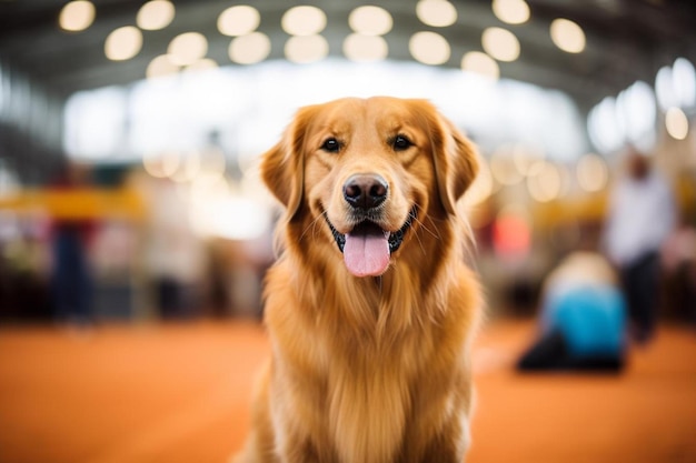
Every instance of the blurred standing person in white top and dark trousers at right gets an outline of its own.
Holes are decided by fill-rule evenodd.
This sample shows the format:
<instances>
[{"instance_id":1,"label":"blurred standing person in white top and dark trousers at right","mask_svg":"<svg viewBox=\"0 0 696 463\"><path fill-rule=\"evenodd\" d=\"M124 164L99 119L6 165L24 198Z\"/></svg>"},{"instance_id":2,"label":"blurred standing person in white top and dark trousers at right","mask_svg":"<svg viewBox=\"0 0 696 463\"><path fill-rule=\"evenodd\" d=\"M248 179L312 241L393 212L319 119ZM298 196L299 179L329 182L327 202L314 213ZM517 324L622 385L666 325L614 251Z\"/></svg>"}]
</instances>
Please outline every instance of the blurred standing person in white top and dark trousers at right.
<instances>
[{"instance_id":1,"label":"blurred standing person in white top and dark trousers at right","mask_svg":"<svg viewBox=\"0 0 696 463\"><path fill-rule=\"evenodd\" d=\"M619 272L633 338L645 343L655 333L659 250L675 227L676 203L666 179L635 148L626 168L609 195L603 244Z\"/></svg>"}]
</instances>

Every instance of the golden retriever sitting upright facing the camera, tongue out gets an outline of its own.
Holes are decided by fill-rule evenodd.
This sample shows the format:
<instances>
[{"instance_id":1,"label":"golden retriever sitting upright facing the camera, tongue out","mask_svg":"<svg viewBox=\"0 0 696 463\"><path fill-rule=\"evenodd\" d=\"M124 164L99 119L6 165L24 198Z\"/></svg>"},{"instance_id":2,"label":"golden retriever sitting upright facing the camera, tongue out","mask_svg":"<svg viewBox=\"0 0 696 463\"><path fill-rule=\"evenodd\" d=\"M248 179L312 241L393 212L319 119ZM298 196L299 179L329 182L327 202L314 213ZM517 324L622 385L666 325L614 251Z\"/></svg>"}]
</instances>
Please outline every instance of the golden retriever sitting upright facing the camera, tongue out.
<instances>
[{"instance_id":1,"label":"golden retriever sitting upright facing the camera, tongue out","mask_svg":"<svg viewBox=\"0 0 696 463\"><path fill-rule=\"evenodd\" d=\"M271 359L238 463L460 463L483 312L458 212L477 153L424 100L300 109L261 158L285 207Z\"/></svg>"}]
</instances>

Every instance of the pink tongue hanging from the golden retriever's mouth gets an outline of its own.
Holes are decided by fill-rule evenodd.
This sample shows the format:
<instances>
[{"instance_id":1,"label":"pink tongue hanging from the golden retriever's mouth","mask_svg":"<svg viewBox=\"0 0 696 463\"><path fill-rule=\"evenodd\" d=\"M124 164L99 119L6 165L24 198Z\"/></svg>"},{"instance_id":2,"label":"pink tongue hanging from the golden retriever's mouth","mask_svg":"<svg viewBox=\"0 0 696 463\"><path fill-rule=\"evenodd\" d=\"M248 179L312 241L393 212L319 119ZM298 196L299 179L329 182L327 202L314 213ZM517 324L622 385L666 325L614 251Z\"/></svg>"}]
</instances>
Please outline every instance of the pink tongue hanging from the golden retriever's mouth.
<instances>
[{"instance_id":1,"label":"pink tongue hanging from the golden retriever's mouth","mask_svg":"<svg viewBox=\"0 0 696 463\"><path fill-rule=\"evenodd\" d=\"M377 225L358 225L346 234L344 261L356 276L378 276L389 266L389 232Z\"/></svg>"}]
</instances>

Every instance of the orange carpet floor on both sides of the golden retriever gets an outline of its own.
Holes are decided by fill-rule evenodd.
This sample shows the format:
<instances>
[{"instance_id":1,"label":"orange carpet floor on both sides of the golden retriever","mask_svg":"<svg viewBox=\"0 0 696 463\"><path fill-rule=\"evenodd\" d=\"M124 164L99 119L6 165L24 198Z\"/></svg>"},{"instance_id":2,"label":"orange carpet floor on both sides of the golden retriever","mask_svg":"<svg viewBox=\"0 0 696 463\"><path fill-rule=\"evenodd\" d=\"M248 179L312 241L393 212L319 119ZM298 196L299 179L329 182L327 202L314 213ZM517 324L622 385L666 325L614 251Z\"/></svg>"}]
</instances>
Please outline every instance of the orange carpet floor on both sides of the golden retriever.
<instances>
[{"instance_id":1,"label":"orange carpet floor on both sides of the golden retriever","mask_svg":"<svg viewBox=\"0 0 696 463\"><path fill-rule=\"evenodd\" d=\"M696 332L663 326L619 375L516 373L530 322L475 350L468 463L696 462ZM223 463L268 355L251 322L0 329L0 462Z\"/></svg>"}]
</instances>

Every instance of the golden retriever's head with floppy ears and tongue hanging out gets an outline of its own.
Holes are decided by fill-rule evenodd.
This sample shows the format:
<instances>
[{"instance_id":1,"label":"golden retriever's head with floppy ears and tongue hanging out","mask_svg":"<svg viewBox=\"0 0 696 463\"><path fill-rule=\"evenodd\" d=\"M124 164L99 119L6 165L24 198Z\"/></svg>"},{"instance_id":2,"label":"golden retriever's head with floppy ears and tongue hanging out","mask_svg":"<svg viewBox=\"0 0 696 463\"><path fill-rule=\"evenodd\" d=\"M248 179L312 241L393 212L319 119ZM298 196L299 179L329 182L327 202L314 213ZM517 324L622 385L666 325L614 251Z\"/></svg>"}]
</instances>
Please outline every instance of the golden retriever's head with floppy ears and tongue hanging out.
<instances>
[{"instance_id":1,"label":"golden retriever's head with floppy ears and tongue hanging out","mask_svg":"<svg viewBox=\"0 0 696 463\"><path fill-rule=\"evenodd\" d=\"M421 215L456 214L477 170L473 145L430 103L386 97L300 109L261 162L290 227L319 228L356 276L382 274Z\"/></svg>"}]
</instances>

